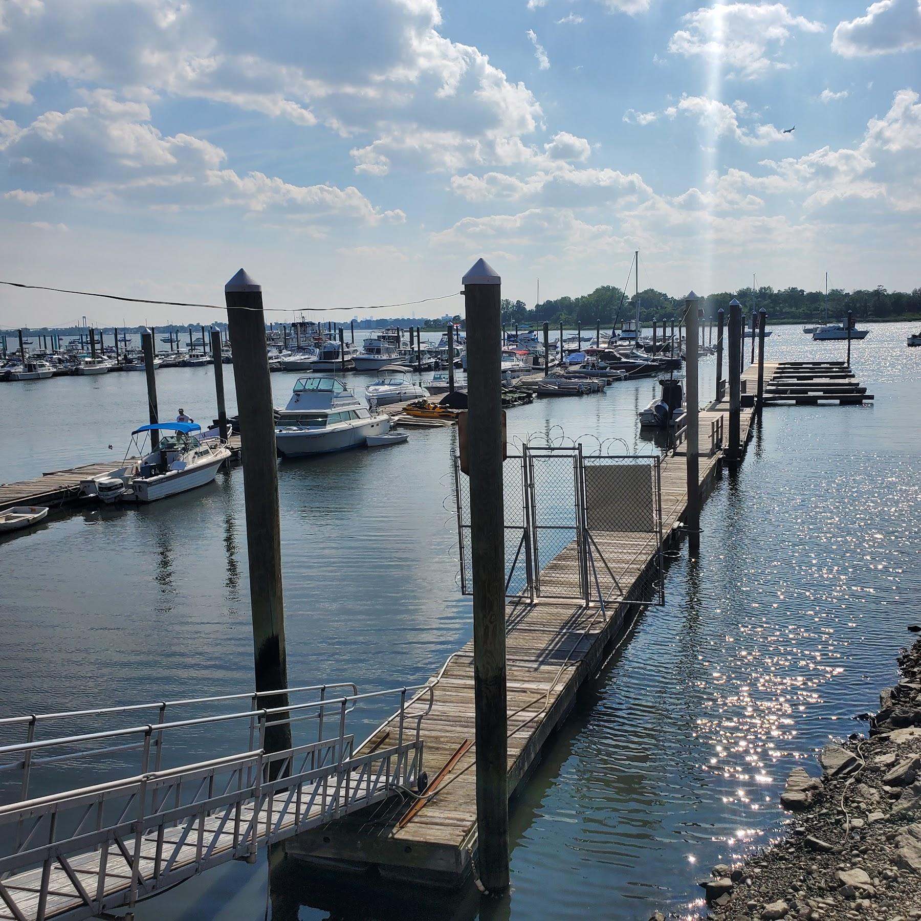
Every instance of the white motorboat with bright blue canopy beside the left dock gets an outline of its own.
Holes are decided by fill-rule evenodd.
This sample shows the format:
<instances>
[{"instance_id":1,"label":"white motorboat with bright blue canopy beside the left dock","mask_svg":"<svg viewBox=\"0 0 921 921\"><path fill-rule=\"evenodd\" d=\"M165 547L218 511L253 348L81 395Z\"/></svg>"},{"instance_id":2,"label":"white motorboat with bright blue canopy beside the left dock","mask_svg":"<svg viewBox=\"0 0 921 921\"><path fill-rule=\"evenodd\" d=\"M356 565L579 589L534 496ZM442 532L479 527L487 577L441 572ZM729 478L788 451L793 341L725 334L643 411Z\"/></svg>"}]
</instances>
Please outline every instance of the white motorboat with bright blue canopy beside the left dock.
<instances>
[{"instance_id":1,"label":"white motorboat with bright blue canopy beside the left dock","mask_svg":"<svg viewBox=\"0 0 921 921\"><path fill-rule=\"evenodd\" d=\"M84 480L80 484L83 494L95 495L107 504L155 502L213 482L230 451L219 440L200 441L192 434L201 430L202 426L194 422L159 422L135 428L122 466ZM148 432L157 432L160 437L157 446L144 454L138 436L143 438ZM140 460L129 460L133 449L142 455Z\"/></svg>"}]
</instances>

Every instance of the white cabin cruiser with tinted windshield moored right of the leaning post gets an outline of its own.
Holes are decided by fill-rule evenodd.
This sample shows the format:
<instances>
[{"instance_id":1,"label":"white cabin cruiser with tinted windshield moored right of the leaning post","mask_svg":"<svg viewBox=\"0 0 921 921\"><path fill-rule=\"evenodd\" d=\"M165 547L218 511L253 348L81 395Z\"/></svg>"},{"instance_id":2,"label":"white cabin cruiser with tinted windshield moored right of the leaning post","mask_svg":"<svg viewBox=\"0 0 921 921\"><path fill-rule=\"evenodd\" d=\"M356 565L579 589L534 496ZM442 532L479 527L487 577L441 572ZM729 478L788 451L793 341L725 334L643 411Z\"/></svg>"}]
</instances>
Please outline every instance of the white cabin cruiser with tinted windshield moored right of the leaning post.
<instances>
[{"instance_id":1,"label":"white cabin cruiser with tinted windshield moored right of the leaning post","mask_svg":"<svg viewBox=\"0 0 921 921\"><path fill-rule=\"evenodd\" d=\"M389 415L369 411L328 375L298 378L285 409L275 410L275 447L285 458L363 448L368 436L390 429Z\"/></svg>"}]
</instances>

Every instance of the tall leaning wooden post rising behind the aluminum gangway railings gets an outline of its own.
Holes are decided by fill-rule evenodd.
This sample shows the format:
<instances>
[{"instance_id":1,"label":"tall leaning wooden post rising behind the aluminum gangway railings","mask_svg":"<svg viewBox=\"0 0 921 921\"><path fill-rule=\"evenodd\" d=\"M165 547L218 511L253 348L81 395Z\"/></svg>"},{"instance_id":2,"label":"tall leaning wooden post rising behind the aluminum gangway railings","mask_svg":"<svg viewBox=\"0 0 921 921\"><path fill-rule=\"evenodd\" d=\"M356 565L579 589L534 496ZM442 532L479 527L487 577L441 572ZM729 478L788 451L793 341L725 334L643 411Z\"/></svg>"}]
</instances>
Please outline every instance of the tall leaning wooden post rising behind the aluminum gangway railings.
<instances>
[{"instance_id":1,"label":"tall leaning wooden post rising behind the aluminum gangway railings","mask_svg":"<svg viewBox=\"0 0 921 921\"><path fill-rule=\"evenodd\" d=\"M256 690L282 691L287 688L285 600L282 593L278 460L275 455L272 381L269 379L269 359L265 348L262 286L240 269L224 286L224 297L233 340L234 382L243 457ZM266 709L287 704L287 694L269 694L260 699L260 705ZM290 747L290 723L269 722L265 728L265 751L279 752Z\"/></svg>"}]
</instances>

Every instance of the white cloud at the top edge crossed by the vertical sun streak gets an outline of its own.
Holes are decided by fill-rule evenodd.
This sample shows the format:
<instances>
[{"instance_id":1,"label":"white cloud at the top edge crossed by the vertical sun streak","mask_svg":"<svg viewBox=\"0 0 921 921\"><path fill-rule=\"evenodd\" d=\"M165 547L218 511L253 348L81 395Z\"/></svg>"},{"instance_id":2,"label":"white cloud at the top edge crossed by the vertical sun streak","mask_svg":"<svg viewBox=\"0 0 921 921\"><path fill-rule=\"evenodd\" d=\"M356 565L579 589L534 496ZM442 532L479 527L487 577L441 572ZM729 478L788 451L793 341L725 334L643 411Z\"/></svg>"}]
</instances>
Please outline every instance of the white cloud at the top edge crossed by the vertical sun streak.
<instances>
[{"instance_id":1,"label":"white cloud at the top edge crossed by the vertical sun streak","mask_svg":"<svg viewBox=\"0 0 921 921\"><path fill-rule=\"evenodd\" d=\"M821 22L794 16L781 3L702 6L683 16L682 24L669 41L670 52L705 58L747 80L791 66L779 59L779 49L795 31L825 28Z\"/></svg>"}]
</instances>

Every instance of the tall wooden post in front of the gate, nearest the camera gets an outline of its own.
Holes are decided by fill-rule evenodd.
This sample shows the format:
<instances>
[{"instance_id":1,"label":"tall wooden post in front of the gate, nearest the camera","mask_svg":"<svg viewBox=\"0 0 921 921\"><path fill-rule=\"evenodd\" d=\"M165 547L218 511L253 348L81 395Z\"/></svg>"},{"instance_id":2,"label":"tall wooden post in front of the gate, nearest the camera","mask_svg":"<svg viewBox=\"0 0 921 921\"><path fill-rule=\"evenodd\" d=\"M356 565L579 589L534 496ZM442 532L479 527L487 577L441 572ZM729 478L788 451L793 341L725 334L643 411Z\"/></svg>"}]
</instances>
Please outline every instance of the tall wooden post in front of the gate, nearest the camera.
<instances>
[{"instance_id":1,"label":"tall wooden post in front of the gate, nearest the camera","mask_svg":"<svg viewBox=\"0 0 921 921\"><path fill-rule=\"evenodd\" d=\"M480 881L508 888L505 507L502 484L501 279L483 259L463 277L467 457L473 577L473 696ZM544 330L546 330L544 324Z\"/></svg>"}]
</instances>

